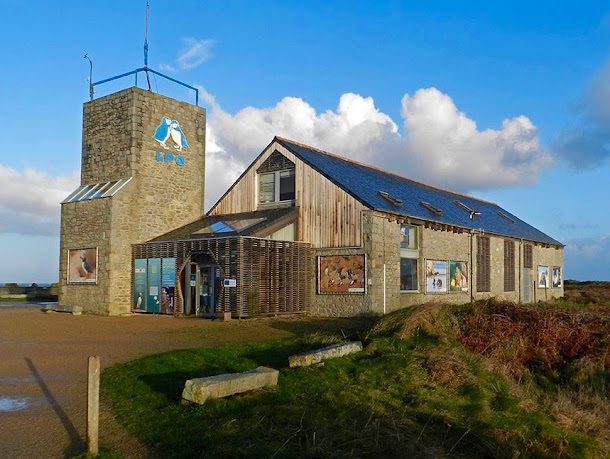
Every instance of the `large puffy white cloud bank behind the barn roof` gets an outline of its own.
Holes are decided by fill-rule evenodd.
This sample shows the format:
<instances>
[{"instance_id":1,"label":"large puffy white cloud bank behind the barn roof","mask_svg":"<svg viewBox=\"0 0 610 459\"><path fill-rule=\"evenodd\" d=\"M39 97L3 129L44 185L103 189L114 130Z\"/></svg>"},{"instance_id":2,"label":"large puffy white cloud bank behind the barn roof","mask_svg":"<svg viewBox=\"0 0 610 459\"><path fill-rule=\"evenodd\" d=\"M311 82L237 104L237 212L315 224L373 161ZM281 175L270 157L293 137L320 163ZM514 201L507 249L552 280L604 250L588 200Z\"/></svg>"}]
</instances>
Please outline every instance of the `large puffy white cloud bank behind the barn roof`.
<instances>
[{"instance_id":1,"label":"large puffy white cloud bank behind the barn roof","mask_svg":"<svg viewBox=\"0 0 610 459\"><path fill-rule=\"evenodd\" d=\"M222 170L214 171L210 159L222 154L223 167L233 164L233 172L241 170L274 135L463 191L529 184L552 164L526 116L479 130L436 88L402 98L402 134L373 98L359 94L343 94L335 110L324 112L301 98L284 97L272 107L246 107L234 115L203 94L216 149L208 156L208 172L215 178ZM221 193L215 186L208 183L210 196Z\"/></svg>"}]
</instances>

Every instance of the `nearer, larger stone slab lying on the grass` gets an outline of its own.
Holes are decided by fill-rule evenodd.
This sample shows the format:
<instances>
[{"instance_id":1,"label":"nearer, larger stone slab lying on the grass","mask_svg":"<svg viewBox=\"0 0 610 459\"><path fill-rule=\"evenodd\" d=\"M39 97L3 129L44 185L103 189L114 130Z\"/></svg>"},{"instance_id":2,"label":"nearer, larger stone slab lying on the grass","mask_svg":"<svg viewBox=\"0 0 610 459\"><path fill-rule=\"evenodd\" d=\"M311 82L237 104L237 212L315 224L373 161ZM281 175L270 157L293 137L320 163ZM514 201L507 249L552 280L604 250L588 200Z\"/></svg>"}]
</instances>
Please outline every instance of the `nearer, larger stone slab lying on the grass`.
<instances>
[{"instance_id":1,"label":"nearer, larger stone slab lying on the grass","mask_svg":"<svg viewBox=\"0 0 610 459\"><path fill-rule=\"evenodd\" d=\"M279 371L258 367L244 373L226 373L206 378L189 379L184 384L182 398L203 405L210 398L223 398L267 386L277 386Z\"/></svg>"}]
</instances>

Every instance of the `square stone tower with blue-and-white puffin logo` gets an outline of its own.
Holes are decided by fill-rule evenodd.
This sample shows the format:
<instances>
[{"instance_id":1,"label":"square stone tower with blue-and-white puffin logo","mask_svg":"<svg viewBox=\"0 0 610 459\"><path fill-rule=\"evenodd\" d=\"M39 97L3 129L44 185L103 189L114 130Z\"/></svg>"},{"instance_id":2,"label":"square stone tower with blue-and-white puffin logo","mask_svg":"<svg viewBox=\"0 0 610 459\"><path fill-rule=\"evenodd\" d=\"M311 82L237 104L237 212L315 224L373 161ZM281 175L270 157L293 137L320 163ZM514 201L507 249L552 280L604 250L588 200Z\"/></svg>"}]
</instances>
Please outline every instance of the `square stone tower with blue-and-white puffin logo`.
<instances>
[{"instance_id":1,"label":"square stone tower with blue-and-white puffin logo","mask_svg":"<svg viewBox=\"0 0 610 459\"><path fill-rule=\"evenodd\" d=\"M131 310L131 246L203 213L205 110L137 87L84 104L81 186L62 203L59 304Z\"/></svg>"}]
</instances>

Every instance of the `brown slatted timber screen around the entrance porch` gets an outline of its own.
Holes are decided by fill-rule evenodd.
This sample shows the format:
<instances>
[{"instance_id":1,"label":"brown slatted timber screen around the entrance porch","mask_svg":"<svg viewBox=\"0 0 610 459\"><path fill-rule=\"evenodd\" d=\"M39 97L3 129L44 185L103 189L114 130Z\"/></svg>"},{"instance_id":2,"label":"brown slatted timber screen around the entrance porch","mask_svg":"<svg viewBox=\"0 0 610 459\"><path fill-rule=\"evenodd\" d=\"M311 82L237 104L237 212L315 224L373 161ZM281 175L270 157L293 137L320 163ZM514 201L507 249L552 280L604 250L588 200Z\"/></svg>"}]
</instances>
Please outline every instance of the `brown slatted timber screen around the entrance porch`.
<instances>
[{"instance_id":1,"label":"brown slatted timber screen around the entrance porch","mask_svg":"<svg viewBox=\"0 0 610 459\"><path fill-rule=\"evenodd\" d=\"M236 280L234 288L221 287L219 313L247 318L298 314L309 308L309 244L227 237L134 245L133 260L176 258L177 315L184 312L184 270L192 254L210 255L222 278Z\"/></svg>"}]
</instances>

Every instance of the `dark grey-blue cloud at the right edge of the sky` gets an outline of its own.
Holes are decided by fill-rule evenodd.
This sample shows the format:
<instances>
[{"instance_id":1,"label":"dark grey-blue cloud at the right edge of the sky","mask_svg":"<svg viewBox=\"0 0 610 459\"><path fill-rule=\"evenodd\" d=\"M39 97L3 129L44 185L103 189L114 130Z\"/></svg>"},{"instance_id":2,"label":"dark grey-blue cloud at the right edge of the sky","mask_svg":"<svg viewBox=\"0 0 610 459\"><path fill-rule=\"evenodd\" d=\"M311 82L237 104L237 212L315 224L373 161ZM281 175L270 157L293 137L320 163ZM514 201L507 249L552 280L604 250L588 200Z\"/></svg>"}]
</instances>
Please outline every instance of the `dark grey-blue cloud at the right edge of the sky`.
<instances>
[{"instance_id":1,"label":"dark grey-blue cloud at the right edge of the sky","mask_svg":"<svg viewBox=\"0 0 610 459\"><path fill-rule=\"evenodd\" d=\"M553 148L576 169L597 167L610 159L610 62L587 88L575 120L557 136Z\"/></svg>"}]
</instances>

